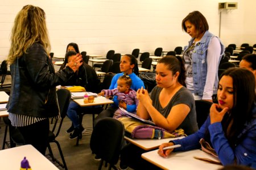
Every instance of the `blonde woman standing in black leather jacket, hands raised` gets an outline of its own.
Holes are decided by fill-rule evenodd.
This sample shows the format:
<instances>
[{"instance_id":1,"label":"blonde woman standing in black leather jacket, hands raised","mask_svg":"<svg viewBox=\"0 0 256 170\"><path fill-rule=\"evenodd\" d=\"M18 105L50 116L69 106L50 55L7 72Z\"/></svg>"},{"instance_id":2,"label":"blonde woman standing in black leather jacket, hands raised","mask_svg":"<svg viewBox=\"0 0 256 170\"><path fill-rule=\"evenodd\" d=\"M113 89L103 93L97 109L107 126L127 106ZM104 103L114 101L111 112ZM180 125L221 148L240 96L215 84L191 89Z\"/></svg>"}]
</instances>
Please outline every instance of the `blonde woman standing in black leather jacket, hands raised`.
<instances>
[{"instance_id":1,"label":"blonde woman standing in black leather jacket, hands raised","mask_svg":"<svg viewBox=\"0 0 256 170\"><path fill-rule=\"evenodd\" d=\"M65 69L56 72L49 58L51 45L46 14L40 7L26 5L16 15L7 58L11 68L11 94L7 109L11 125L27 144L45 154L49 117L59 117L56 86L67 81L82 65L76 55Z\"/></svg>"}]
</instances>

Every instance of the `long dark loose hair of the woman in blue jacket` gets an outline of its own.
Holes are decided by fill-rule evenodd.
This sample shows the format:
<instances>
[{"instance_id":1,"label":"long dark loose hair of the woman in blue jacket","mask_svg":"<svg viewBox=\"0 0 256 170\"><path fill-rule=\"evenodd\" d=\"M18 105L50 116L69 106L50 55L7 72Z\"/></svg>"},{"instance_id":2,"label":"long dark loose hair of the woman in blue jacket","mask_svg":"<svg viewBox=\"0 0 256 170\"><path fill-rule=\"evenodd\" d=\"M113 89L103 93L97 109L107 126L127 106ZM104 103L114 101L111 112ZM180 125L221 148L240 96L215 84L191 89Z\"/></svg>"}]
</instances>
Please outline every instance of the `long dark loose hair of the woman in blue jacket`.
<instances>
[{"instance_id":1,"label":"long dark loose hair of the woman in blue jacket","mask_svg":"<svg viewBox=\"0 0 256 170\"><path fill-rule=\"evenodd\" d=\"M237 135L244 129L245 123L250 121L255 101L255 78L251 71L242 68L226 70L222 76L233 79L233 108L225 114L221 121L223 131L230 146L235 147ZM220 78L220 79L221 79ZM233 123L232 123L233 121ZM230 124L232 124L230 126Z\"/></svg>"}]
</instances>

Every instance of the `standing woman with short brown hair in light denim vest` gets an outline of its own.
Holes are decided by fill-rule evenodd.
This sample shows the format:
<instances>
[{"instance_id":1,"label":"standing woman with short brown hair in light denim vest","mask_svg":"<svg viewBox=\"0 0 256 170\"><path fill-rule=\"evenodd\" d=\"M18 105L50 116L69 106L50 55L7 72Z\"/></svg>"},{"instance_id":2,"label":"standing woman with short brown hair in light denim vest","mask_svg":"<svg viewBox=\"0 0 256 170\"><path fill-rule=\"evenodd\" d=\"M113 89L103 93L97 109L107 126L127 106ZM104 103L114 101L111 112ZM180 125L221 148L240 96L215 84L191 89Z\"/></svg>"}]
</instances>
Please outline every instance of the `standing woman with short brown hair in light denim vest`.
<instances>
[{"instance_id":1,"label":"standing woman with short brown hair in light denim vest","mask_svg":"<svg viewBox=\"0 0 256 170\"><path fill-rule=\"evenodd\" d=\"M218 65L224 45L208 31L207 20L199 11L189 13L182 21L182 28L192 37L183 54L187 88L195 100L212 101L217 92Z\"/></svg>"}]
</instances>

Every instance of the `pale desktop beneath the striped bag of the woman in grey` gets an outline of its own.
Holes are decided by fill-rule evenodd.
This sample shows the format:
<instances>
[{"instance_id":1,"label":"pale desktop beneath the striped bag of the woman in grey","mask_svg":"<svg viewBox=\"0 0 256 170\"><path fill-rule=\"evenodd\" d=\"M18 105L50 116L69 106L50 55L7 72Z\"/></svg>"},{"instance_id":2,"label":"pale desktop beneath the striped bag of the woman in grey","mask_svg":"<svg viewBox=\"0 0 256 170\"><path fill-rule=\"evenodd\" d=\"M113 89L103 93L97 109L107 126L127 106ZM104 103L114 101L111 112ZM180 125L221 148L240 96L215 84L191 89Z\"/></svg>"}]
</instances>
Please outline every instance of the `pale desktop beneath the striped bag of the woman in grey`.
<instances>
[{"instance_id":1,"label":"pale desktop beneath the striped bag of the woman in grey","mask_svg":"<svg viewBox=\"0 0 256 170\"><path fill-rule=\"evenodd\" d=\"M181 139L184 137L177 137L177 138L163 138L163 139L132 139L129 137L125 137L126 141L133 143L143 150L149 151L158 148L162 143L167 143L172 140Z\"/></svg>"}]
</instances>

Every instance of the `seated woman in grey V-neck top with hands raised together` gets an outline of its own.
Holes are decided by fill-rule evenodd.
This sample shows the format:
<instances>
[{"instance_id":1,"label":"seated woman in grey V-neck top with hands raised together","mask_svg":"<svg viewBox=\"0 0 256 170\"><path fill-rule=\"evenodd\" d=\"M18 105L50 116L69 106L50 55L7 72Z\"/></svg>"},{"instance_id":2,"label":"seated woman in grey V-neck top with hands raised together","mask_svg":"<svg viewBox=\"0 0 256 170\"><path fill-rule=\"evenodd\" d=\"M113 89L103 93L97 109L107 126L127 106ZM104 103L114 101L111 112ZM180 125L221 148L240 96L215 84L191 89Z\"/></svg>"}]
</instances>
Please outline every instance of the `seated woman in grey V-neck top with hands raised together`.
<instances>
[{"instance_id":1,"label":"seated woman in grey V-neck top with hands raised together","mask_svg":"<svg viewBox=\"0 0 256 170\"><path fill-rule=\"evenodd\" d=\"M184 62L180 57L167 56L156 65L156 83L151 94L143 88L137 91L137 115L151 119L160 128L170 132L181 128L186 134L198 130L195 100L185 84ZM125 146L121 152L120 168L154 169L141 158L144 151L135 145Z\"/></svg>"}]
</instances>

